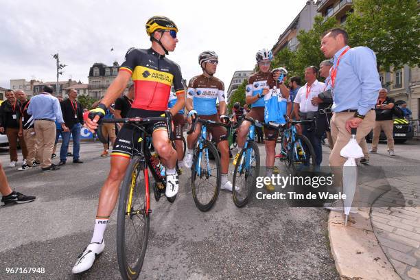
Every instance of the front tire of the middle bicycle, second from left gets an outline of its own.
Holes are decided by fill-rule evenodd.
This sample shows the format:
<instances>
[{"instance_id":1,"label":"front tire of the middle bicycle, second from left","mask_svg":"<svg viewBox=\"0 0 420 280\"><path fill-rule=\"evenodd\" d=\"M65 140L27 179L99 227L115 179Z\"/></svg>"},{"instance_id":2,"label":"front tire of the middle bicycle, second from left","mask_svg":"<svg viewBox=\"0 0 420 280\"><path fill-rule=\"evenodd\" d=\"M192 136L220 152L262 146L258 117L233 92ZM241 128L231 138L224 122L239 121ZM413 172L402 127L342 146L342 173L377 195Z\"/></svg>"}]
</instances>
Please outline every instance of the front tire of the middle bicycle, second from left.
<instances>
[{"instance_id":1,"label":"front tire of the middle bicycle, second from left","mask_svg":"<svg viewBox=\"0 0 420 280\"><path fill-rule=\"evenodd\" d=\"M200 154L200 152L204 154L204 151L206 149L209 151L209 161L211 161L210 154L213 156L213 161L215 161L216 178L215 178L215 187L213 187L213 195L211 196L211 199L208 202L202 202L200 201L200 197L199 197L201 196L201 190L199 189L201 183L196 182L196 178L198 177L196 167L197 167L197 162L198 162L198 155ZM202 159L204 160L205 157L203 156ZM213 145L213 143L211 143L210 141L205 141L202 145L202 149L197 148L196 152L194 153L193 165L191 167L192 196L194 198L194 202L196 203L196 207L202 212L209 211L211 207L213 207L213 205L215 204L216 200L218 200L218 196L220 192L221 177L222 177L220 168L221 168L220 157L218 154L218 150L216 150L215 145Z\"/></svg>"}]
</instances>

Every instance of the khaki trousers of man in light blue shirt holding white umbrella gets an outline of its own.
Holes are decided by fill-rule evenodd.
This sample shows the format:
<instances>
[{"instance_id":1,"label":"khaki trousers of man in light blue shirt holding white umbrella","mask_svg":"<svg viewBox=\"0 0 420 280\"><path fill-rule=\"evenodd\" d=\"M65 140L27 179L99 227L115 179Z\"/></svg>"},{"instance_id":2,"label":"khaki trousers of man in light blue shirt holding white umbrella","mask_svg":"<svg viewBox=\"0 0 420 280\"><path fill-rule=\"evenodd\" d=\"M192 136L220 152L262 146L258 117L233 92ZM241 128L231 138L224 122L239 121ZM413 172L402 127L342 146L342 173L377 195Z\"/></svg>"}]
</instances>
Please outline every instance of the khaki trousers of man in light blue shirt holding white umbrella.
<instances>
[{"instance_id":1,"label":"khaki trousers of man in light blue shirt holding white umbrella","mask_svg":"<svg viewBox=\"0 0 420 280\"><path fill-rule=\"evenodd\" d=\"M340 156L342 148L349 143L351 134L346 129L346 121L353 117L354 113L343 112L335 113L331 118L331 137L334 141L334 148L329 155L329 165L334 174L334 185L342 190L342 166L347 161L346 158ZM360 143L366 135L371 132L375 124L375 111L370 110L358 127L356 133L356 141ZM354 201L358 201L359 188L356 187Z\"/></svg>"}]
</instances>

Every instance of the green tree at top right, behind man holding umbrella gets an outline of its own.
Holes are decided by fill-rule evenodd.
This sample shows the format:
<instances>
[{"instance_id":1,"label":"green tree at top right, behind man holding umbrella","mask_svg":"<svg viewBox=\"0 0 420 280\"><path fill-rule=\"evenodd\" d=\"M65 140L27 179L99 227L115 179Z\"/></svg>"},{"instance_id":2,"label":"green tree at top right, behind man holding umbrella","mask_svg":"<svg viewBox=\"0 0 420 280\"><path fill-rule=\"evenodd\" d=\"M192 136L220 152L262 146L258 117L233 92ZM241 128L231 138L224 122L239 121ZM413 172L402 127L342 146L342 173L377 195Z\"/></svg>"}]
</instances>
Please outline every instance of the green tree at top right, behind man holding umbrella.
<instances>
[{"instance_id":1,"label":"green tree at top right, behind man holding umbrella","mask_svg":"<svg viewBox=\"0 0 420 280\"><path fill-rule=\"evenodd\" d=\"M420 62L420 14L417 0L353 0L346 30L349 45L376 53L383 70Z\"/></svg>"}]
</instances>

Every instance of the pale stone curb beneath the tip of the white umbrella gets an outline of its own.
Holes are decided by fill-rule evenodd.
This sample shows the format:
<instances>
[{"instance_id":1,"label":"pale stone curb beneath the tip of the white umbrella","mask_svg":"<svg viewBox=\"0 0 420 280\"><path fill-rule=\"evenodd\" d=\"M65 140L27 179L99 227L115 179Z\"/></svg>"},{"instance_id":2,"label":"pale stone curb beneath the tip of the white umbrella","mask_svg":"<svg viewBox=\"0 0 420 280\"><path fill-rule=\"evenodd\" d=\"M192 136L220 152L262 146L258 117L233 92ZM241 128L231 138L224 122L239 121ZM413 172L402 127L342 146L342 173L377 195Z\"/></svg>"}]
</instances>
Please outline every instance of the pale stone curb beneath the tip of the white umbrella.
<instances>
[{"instance_id":1,"label":"pale stone curb beneath the tip of the white umbrella","mask_svg":"<svg viewBox=\"0 0 420 280\"><path fill-rule=\"evenodd\" d=\"M329 213L329 242L337 271L345 280L399 280L373 233L369 216L370 208L363 208L351 213L345 226L342 213Z\"/></svg>"}]
</instances>

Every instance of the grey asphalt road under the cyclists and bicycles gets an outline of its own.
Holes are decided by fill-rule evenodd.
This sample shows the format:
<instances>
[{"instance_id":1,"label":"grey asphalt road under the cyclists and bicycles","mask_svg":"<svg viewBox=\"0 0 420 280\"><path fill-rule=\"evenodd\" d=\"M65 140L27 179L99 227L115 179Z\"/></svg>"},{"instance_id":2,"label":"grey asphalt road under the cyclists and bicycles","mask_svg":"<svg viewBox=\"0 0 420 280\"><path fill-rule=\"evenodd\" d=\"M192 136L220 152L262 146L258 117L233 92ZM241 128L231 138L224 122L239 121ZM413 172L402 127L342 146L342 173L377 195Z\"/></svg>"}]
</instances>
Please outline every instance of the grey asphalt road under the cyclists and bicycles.
<instances>
[{"instance_id":1,"label":"grey asphalt road under the cyclists and bicycles","mask_svg":"<svg viewBox=\"0 0 420 280\"><path fill-rule=\"evenodd\" d=\"M420 150L399 145L396 151L413 147ZM1 279L119 279L115 213L104 253L89 272L71 275L76 257L90 242L98 193L109 170L109 158L100 158L101 151L98 143L83 143L85 163L68 161L56 172L6 167L12 187L37 199L0 209ZM382 161L375 157L372 165ZM7 165L7 152L0 152L0 159ZM237 209L231 194L222 191L215 207L202 213L191 197L189 172L180 178L176 202L153 200L152 209L145 279L338 279L323 209L279 202L251 202ZM5 268L12 266L45 268L45 274L6 275Z\"/></svg>"}]
</instances>

